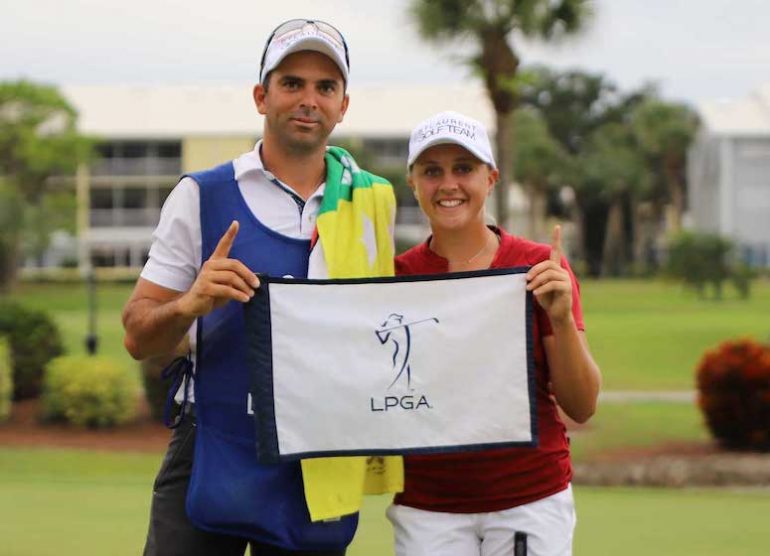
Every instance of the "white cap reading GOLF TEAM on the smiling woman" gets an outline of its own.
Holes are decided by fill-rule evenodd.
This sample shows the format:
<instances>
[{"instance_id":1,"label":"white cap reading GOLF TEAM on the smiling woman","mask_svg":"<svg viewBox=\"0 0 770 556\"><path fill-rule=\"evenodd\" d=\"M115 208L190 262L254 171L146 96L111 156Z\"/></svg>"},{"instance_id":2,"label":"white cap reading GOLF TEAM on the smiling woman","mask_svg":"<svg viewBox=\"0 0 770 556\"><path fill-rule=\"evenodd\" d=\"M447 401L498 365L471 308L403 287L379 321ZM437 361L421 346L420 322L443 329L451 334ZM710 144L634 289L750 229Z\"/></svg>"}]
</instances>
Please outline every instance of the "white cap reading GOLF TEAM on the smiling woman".
<instances>
[{"instance_id":1,"label":"white cap reading GOLF TEAM on the smiling woman","mask_svg":"<svg viewBox=\"0 0 770 556\"><path fill-rule=\"evenodd\" d=\"M481 122L459 112L440 112L420 123L409 137L407 167L411 168L425 150L436 145L460 145L476 158L497 168L487 130Z\"/></svg>"}]
</instances>

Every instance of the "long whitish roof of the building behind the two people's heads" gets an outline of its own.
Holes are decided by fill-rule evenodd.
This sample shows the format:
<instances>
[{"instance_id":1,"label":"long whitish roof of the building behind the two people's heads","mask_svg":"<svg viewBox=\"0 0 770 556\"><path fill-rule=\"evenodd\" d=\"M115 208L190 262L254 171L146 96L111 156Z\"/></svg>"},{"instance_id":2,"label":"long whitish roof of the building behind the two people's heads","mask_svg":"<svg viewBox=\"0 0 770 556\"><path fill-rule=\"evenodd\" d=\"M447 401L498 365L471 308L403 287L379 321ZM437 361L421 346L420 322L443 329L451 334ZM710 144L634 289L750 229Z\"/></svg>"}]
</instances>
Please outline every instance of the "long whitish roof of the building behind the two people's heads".
<instances>
[{"instance_id":1,"label":"long whitish roof of the building behind the two people's heads","mask_svg":"<svg viewBox=\"0 0 770 556\"><path fill-rule=\"evenodd\" d=\"M79 128L97 137L152 139L250 136L262 132L251 85L64 86L80 114ZM456 110L494 128L494 111L481 84L437 87L358 87L335 130L339 137L407 137L441 110Z\"/></svg>"}]
</instances>

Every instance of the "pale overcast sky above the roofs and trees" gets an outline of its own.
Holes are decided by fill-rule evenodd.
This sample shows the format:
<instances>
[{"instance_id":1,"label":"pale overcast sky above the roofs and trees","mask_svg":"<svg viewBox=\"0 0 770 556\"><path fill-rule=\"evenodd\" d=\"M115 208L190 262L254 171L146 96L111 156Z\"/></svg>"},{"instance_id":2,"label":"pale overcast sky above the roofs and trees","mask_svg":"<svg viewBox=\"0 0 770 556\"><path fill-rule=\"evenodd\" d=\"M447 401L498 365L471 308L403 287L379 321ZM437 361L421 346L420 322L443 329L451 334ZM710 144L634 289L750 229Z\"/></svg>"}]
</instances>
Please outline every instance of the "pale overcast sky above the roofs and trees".
<instances>
[{"instance_id":1,"label":"pale overcast sky above the roofs and trees","mask_svg":"<svg viewBox=\"0 0 770 556\"><path fill-rule=\"evenodd\" d=\"M267 35L292 17L334 23L356 84L461 83L464 49L422 42L407 0L2 0L0 79L55 84L251 83ZM768 0L597 0L593 24L559 45L518 44L523 62L601 72L667 98L742 97L770 82Z\"/></svg>"}]
</instances>

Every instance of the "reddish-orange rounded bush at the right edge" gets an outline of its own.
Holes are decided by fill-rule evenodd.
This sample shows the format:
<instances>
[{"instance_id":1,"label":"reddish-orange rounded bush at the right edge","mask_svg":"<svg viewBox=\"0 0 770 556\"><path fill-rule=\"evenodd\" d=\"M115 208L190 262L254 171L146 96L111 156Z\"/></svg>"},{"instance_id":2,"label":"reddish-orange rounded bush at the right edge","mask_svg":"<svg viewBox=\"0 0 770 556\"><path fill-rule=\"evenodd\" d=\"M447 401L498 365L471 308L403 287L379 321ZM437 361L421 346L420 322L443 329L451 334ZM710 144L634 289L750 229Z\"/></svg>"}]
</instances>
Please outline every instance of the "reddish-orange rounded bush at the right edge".
<instances>
[{"instance_id":1,"label":"reddish-orange rounded bush at the right edge","mask_svg":"<svg viewBox=\"0 0 770 556\"><path fill-rule=\"evenodd\" d=\"M701 359L697 383L698 405L722 446L770 451L770 346L722 343Z\"/></svg>"}]
</instances>

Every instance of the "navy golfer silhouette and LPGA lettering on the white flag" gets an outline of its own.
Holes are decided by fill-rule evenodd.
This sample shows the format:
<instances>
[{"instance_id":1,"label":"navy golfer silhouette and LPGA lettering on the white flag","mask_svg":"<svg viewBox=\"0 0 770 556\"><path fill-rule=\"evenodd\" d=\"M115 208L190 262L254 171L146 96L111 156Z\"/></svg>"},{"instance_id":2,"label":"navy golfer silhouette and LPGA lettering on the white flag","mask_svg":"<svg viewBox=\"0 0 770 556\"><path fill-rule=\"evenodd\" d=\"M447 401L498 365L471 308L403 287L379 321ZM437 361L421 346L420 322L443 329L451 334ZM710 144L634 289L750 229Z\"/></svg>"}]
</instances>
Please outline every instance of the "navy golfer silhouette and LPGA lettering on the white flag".
<instances>
[{"instance_id":1,"label":"navy golfer silhouette and LPGA lettering on the white flag","mask_svg":"<svg viewBox=\"0 0 770 556\"><path fill-rule=\"evenodd\" d=\"M392 361L393 361L393 382L388 386L388 390L399 382L406 381L406 387L411 392L412 388L412 366L409 362L409 356L412 352L412 331L411 328L418 324L434 323L438 324L436 317L430 317L427 319L416 320L412 322L404 322L404 316L397 313L391 313L388 318L385 319L380 327L374 331L380 344L383 346L390 344L393 349ZM402 377L405 377L402 379ZM401 409L419 409L421 407L431 408L428 403L428 399L422 395L415 403L415 397L412 395L406 396L385 396L383 403L375 403L374 398L370 398L371 411L388 411L390 408L400 407ZM379 401L379 400L378 400Z\"/></svg>"}]
</instances>

